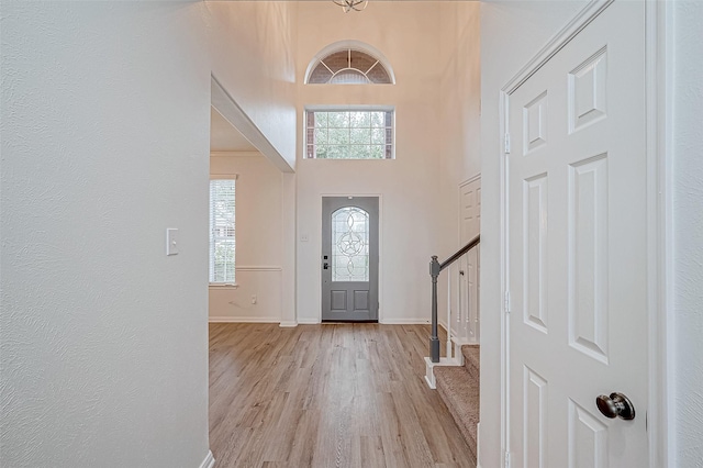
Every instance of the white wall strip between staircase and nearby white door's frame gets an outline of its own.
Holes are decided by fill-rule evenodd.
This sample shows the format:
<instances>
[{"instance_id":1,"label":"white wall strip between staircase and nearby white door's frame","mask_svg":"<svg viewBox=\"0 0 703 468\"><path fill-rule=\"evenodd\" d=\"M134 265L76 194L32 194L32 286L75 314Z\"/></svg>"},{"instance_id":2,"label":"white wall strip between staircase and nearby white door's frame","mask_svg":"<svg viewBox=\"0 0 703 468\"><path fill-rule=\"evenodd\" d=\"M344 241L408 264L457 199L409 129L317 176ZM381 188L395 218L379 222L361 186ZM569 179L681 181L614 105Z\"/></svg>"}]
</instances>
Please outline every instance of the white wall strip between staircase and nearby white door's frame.
<instances>
[{"instance_id":1,"label":"white wall strip between staircase and nearby white door's frame","mask_svg":"<svg viewBox=\"0 0 703 468\"><path fill-rule=\"evenodd\" d=\"M500 89L585 1L481 3L481 426L482 467L501 466Z\"/></svg>"}]
</instances>

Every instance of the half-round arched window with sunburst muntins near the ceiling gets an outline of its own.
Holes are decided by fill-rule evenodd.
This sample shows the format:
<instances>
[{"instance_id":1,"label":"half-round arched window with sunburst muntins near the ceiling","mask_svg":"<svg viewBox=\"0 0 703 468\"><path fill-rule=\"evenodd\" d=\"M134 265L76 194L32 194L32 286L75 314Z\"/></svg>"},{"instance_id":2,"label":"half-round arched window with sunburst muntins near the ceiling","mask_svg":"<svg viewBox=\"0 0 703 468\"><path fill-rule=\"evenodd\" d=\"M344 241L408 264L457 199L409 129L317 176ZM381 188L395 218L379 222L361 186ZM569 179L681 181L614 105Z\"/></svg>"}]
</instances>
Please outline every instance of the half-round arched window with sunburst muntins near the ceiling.
<instances>
[{"instance_id":1,"label":"half-round arched window with sunburst muntins near the ceiling","mask_svg":"<svg viewBox=\"0 0 703 468\"><path fill-rule=\"evenodd\" d=\"M308 66L306 85L394 85L393 70L379 51L341 41L320 51Z\"/></svg>"}]
</instances>

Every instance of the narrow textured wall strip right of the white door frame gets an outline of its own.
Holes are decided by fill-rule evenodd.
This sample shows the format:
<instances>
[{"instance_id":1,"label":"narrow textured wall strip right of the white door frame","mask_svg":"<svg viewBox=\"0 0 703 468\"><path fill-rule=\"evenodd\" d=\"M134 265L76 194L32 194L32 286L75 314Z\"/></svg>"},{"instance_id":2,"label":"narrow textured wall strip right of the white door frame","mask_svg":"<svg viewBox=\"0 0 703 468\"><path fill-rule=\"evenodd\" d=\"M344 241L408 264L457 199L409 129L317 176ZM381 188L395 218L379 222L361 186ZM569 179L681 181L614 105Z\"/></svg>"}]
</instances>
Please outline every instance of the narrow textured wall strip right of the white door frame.
<instances>
[{"instance_id":1,"label":"narrow textured wall strip right of the white door frame","mask_svg":"<svg viewBox=\"0 0 703 468\"><path fill-rule=\"evenodd\" d=\"M703 460L703 2L674 2L673 218L677 467Z\"/></svg>"}]
</instances>

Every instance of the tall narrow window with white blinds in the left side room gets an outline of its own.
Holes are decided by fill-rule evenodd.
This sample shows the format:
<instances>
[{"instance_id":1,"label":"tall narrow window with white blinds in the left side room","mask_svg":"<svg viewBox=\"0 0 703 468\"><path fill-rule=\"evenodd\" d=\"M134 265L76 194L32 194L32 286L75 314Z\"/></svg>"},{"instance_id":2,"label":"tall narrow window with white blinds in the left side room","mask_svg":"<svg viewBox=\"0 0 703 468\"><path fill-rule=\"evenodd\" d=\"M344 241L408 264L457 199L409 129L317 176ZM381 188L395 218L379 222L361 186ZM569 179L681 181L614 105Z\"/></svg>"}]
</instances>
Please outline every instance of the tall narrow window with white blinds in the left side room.
<instances>
[{"instance_id":1,"label":"tall narrow window with white blinds in the left side room","mask_svg":"<svg viewBox=\"0 0 703 468\"><path fill-rule=\"evenodd\" d=\"M234 285L235 179L210 180L210 282Z\"/></svg>"}]
</instances>

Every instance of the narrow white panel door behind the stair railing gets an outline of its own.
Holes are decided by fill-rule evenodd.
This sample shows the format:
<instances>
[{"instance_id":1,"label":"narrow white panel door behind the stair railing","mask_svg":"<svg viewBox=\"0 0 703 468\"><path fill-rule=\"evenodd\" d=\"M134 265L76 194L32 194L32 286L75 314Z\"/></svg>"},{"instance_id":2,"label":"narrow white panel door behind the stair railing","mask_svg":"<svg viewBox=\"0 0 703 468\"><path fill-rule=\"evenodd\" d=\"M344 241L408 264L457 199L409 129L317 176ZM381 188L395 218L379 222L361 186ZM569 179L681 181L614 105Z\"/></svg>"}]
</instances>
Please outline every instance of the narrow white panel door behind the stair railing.
<instances>
[{"instance_id":1,"label":"narrow white panel door behind the stair railing","mask_svg":"<svg viewBox=\"0 0 703 468\"><path fill-rule=\"evenodd\" d=\"M481 179L459 186L459 245L465 246L481 232ZM457 336L462 342L478 343L480 335L479 278L480 248L472 248L459 260L459 304L456 314Z\"/></svg>"}]
</instances>

